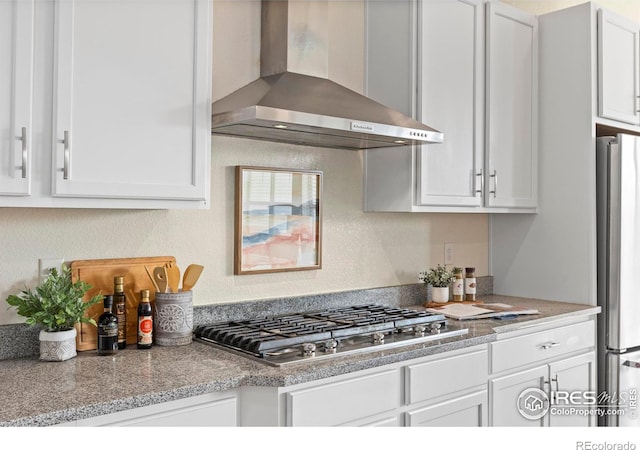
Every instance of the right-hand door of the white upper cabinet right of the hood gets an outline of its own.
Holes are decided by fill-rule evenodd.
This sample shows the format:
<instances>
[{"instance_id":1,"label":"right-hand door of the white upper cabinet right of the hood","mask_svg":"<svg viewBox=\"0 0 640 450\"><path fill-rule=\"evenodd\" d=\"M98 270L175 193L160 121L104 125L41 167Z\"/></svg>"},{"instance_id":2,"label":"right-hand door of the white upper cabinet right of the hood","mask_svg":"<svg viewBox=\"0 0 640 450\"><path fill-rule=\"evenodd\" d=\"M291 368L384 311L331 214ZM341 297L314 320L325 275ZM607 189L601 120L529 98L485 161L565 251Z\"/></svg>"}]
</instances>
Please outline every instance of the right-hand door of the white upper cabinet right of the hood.
<instances>
[{"instance_id":1,"label":"right-hand door of the white upper cabinet right of the hood","mask_svg":"<svg viewBox=\"0 0 640 450\"><path fill-rule=\"evenodd\" d=\"M524 11L487 3L486 206L537 204L538 26Z\"/></svg>"}]
</instances>

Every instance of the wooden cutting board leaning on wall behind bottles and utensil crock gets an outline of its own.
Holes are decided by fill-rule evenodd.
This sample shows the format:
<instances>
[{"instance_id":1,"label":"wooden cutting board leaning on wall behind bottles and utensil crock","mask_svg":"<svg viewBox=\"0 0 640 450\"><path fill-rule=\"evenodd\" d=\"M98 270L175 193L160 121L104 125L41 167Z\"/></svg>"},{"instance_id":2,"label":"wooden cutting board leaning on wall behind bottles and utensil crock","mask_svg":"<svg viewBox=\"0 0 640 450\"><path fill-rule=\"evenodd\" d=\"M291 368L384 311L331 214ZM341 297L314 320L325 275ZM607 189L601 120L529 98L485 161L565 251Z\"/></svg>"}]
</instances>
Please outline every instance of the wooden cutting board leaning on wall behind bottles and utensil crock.
<instances>
[{"instance_id":1,"label":"wooden cutting board leaning on wall behind bottles and utensil crock","mask_svg":"<svg viewBox=\"0 0 640 450\"><path fill-rule=\"evenodd\" d=\"M149 297L153 307L156 290L144 268L146 265L152 272L153 268L163 266L169 262L175 263L173 256L152 256L144 258L119 258L119 259L88 259L72 261L71 280L89 283L92 287L85 294L84 301L99 292L104 295L113 294L113 278L124 277L124 293L127 297L127 345L137 342L138 331L138 303L140 291L149 289ZM102 302L92 306L87 311L88 317L93 317L97 322L104 311ZM77 324L76 348L78 351L95 350L98 348L98 329L90 324Z\"/></svg>"}]
</instances>

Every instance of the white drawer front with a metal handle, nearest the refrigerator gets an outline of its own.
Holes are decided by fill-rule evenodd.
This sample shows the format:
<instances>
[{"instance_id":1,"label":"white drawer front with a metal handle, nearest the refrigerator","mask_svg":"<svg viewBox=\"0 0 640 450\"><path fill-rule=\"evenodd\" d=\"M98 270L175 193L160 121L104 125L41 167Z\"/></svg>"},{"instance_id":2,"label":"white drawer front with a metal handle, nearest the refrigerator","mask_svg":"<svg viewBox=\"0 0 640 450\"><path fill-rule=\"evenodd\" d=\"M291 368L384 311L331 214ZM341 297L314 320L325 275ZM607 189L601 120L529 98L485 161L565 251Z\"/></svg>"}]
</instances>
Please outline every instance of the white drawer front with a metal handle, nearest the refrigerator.
<instances>
[{"instance_id":1,"label":"white drawer front with a metal handle, nearest the refrigerator","mask_svg":"<svg viewBox=\"0 0 640 450\"><path fill-rule=\"evenodd\" d=\"M491 344L491 370L502 372L595 346L593 322L583 322Z\"/></svg>"}]
</instances>

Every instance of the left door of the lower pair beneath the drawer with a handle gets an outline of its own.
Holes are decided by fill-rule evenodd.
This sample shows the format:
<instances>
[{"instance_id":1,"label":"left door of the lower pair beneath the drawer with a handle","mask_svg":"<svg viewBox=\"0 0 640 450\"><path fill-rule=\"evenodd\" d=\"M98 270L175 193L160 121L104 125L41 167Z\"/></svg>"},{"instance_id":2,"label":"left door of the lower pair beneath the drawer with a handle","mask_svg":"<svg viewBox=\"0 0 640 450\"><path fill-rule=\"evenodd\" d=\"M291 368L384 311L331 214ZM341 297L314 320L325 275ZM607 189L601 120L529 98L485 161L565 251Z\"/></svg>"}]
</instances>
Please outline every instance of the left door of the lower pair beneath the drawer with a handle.
<instances>
[{"instance_id":1,"label":"left door of the lower pair beneath the drawer with a handle","mask_svg":"<svg viewBox=\"0 0 640 450\"><path fill-rule=\"evenodd\" d=\"M546 392L547 365L517 372L490 381L491 426L541 427L547 425L547 417L532 420L518 410L518 399L526 389L536 388Z\"/></svg>"}]
</instances>

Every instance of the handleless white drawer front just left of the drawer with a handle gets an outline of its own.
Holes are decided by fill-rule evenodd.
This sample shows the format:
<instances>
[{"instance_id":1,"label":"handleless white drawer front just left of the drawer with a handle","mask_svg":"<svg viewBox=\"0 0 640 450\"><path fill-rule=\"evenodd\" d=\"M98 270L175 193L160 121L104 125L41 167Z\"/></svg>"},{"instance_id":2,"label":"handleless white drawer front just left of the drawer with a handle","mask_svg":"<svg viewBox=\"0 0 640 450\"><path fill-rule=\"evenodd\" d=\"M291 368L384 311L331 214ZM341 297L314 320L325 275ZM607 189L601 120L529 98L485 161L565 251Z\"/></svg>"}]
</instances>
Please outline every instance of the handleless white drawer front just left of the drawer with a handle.
<instances>
[{"instance_id":1,"label":"handleless white drawer front just left of the drawer with a handle","mask_svg":"<svg viewBox=\"0 0 640 450\"><path fill-rule=\"evenodd\" d=\"M408 366L408 402L418 403L483 385L488 370L488 354L484 349Z\"/></svg>"}]
</instances>

